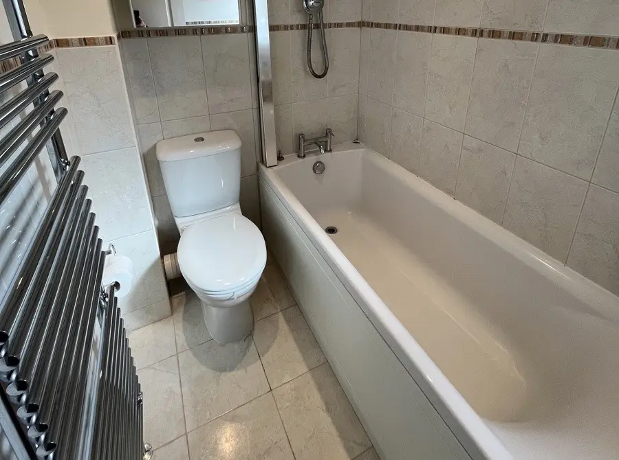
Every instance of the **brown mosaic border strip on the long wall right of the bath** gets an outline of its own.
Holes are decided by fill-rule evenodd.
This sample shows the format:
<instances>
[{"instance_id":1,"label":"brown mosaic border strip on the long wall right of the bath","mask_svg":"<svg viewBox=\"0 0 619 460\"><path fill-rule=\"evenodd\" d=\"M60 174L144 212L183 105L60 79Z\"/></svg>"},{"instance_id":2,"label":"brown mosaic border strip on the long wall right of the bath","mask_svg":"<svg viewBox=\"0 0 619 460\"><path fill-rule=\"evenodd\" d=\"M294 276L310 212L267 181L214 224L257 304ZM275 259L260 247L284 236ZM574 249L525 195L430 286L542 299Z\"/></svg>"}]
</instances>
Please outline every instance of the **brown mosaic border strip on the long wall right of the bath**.
<instances>
[{"instance_id":1,"label":"brown mosaic border strip on the long wall right of the bath","mask_svg":"<svg viewBox=\"0 0 619 460\"><path fill-rule=\"evenodd\" d=\"M375 23L372 21L362 21L361 27L367 27L369 29L405 30L408 32L426 32L428 34L498 38L500 40L557 43L560 45L619 49L619 37L616 36L558 34L520 30L484 29L481 27L443 27L440 25Z\"/></svg>"}]
</instances>

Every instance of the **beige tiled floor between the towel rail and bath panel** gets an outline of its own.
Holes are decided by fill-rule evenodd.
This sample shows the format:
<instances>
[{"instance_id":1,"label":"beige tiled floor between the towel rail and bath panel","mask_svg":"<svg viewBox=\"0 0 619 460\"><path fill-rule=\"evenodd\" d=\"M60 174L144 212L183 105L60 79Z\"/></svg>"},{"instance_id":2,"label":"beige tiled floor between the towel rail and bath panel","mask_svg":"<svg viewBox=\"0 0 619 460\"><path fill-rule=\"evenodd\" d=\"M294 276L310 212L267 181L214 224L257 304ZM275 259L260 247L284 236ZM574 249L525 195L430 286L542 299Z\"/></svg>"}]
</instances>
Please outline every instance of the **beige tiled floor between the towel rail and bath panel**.
<instances>
[{"instance_id":1,"label":"beige tiled floor between the towel rail and bath panel","mask_svg":"<svg viewBox=\"0 0 619 460\"><path fill-rule=\"evenodd\" d=\"M275 264L251 304L241 343L212 340L191 291L129 335L154 458L378 460Z\"/></svg>"}]
</instances>

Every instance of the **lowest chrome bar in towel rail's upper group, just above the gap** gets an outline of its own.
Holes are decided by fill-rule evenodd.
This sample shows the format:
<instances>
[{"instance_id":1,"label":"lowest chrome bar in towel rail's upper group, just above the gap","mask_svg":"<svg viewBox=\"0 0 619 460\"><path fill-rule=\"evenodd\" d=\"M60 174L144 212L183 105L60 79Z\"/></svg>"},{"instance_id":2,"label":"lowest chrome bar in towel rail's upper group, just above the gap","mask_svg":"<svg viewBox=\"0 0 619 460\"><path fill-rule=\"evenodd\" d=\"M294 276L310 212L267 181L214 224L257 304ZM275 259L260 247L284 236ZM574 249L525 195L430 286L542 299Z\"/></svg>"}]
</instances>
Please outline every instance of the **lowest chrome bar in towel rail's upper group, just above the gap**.
<instances>
[{"instance_id":1,"label":"lowest chrome bar in towel rail's upper group, just above the gap","mask_svg":"<svg viewBox=\"0 0 619 460\"><path fill-rule=\"evenodd\" d=\"M50 117L50 121L36 133L34 139L28 143L28 146L19 152L17 159L14 160L2 176L0 176L0 204L4 203L4 200L6 200L10 192L12 192L12 189L19 183L25 172L30 168L36 155L43 150L47 141L56 133L58 126L60 126L66 116L66 108L61 108L56 111L54 115Z\"/></svg>"}]
</instances>

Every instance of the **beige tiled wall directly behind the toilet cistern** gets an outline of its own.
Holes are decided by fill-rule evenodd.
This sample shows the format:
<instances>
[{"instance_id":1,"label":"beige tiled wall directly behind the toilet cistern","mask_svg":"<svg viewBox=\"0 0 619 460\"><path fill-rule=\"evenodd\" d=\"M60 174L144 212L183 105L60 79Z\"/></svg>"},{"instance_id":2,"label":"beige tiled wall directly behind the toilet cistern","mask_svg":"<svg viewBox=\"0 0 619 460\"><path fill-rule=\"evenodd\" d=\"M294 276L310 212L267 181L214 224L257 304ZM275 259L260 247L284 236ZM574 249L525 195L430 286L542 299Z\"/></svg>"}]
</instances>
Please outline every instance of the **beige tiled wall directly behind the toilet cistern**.
<instances>
[{"instance_id":1,"label":"beige tiled wall directly behind the toilet cistern","mask_svg":"<svg viewBox=\"0 0 619 460\"><path fill-rule=\"evenodd\" d=\"M127 38L120 45L162 254L175 252L180 238L155 157L155 144L162 139L235 130L243 141L241 210L259 225L261 140L253 36Z\"/></svg>"}]
</instances>

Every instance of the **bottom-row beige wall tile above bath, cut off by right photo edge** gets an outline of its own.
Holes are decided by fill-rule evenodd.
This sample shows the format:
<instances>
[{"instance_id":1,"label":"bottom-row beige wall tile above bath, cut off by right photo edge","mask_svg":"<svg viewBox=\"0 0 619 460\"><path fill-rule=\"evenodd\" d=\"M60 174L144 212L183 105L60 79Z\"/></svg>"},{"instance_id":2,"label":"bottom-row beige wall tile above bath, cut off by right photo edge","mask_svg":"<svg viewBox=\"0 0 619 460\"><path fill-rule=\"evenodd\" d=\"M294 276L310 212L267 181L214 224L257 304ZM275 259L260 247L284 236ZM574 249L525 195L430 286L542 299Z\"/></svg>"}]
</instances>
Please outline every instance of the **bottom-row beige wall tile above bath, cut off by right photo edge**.
<instances>
[{"instance_id":1,"label":"bottom-row beige wall tile above bath, cut off by right photo edge","mask_svg":"<svg viewBox=\"0 0 619 460\"><path fill-rule=\"evenodd\" d=\"M591 185L567 265L619 295L619 194Z\"/></svg>"}]
</instances>

